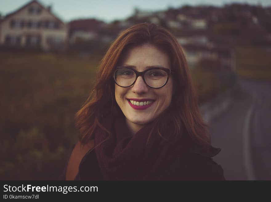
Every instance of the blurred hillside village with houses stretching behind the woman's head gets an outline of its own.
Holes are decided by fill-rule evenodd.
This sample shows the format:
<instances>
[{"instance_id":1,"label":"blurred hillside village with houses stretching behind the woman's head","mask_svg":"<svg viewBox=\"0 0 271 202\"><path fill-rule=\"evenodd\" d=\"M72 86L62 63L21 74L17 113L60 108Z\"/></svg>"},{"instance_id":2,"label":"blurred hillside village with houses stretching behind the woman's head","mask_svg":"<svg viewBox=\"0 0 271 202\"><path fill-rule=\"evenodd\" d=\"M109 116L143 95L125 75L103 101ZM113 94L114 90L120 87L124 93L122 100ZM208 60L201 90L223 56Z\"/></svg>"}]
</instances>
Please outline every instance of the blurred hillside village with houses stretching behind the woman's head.
<instances>
[{"instance_id":1,"label":"blurred hillside village with houses stretching behind the woman's head","mask_svg":"<svg viewBox=\"0 0 271 202\"><path fill-rule=\"evenodd\" d=\"M219 64L220 68L233 70L235 46L271 47L270 19L271 7L234 3L223 7L183 6L152 12L134 9L129 18L111 23L93 18L63 22L51 12L50 6L33 0L1 19L0 45L91 54L99 52L99 47L108 46L129 26L151 22L176 36L190 67L197 63Z\"/></svg>"}]
</instances>

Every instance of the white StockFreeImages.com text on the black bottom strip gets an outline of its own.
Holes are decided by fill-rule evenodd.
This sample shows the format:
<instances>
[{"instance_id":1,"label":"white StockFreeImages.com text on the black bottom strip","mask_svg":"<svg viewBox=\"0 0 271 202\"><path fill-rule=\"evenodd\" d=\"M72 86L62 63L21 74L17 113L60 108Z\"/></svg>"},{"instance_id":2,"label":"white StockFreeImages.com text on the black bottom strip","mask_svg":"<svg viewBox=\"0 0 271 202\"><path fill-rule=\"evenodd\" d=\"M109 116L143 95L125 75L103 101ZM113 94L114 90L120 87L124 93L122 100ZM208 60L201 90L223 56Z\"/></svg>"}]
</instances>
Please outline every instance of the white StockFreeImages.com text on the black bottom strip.
<instances>
[{"instance_id":1,"label":"white StockFreeImages.com text on the black bottom strip","mask_svg":"<svg viewBox=\"0 0 271 202\"><path fill-rule=\"evenodd\" d=\"M27 184L26 186L10 186L4 185L4 192L62 192L67 194L68 192L98 192L97 186L82 186L79 189L77 186L32 186Z\"/></svg>"}]
</instances>

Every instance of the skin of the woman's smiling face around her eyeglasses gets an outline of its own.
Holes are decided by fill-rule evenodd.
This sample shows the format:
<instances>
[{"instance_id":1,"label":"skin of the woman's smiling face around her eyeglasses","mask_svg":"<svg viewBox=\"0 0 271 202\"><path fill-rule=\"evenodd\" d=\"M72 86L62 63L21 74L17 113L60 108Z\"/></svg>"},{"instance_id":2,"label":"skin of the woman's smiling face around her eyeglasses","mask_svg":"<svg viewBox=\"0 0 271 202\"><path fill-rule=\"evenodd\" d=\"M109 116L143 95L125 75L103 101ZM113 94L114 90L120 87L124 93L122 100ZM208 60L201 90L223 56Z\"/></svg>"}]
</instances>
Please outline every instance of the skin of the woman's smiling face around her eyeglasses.
<instances>
[{"instance_id":1,"label":"skin of the woman's smiling face around her eyeglasses","mask_svg":"<svg viewBox=\"0 0 271 202\"><path fill-rule=\"evenodd\" d=\"M132 68L139 72L150 68L150 66L171 68L168 55L150 44L130 48L124 53L118 66L133 66ZM136 83L130 87L124 88L115 84L115 99L126 117L128 126L140 129L156 119L170 105L172 87L171 76L164 87L157 89L148 87L142 76L138 77ZM151 101L152 103L142 107L134 107L130 100L142 100L146 104ZM135 104L135 102L133 103Z\"/></svg>"}]
</instances>

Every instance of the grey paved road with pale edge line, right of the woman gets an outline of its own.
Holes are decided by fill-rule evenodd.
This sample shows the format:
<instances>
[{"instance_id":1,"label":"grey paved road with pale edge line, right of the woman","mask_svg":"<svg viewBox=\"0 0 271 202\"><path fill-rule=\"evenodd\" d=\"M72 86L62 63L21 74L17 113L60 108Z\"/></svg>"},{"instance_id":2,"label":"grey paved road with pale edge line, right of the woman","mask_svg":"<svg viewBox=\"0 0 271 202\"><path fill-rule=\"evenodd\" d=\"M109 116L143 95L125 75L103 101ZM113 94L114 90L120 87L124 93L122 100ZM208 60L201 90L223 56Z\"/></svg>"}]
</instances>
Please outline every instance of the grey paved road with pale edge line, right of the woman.
<instances>
[{"instance_id":1,"label":"grey paved road with pale edge line, right of the woman","mask_svg":"<svg viewBox=\"0 0 271 202\"><path fill-rule=\"evenodd\" d=\"M212 119L213 159L226 180L271 180L271 82L237 80L229 108Z\"/></svg>"}]
</instances>

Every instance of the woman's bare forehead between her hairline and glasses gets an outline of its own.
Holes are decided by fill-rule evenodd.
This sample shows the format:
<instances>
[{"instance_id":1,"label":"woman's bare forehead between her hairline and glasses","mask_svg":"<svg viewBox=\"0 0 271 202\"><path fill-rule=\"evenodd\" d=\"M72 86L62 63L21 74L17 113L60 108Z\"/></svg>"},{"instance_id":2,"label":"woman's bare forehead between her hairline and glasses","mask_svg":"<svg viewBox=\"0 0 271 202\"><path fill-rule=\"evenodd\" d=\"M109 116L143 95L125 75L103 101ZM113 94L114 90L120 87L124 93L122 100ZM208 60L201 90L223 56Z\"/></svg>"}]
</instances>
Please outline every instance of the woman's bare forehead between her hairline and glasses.
<instances>
[{"instance_id":1,"label":"woman's bare forehead between her hairline and glasses","mask_svg":"<svg viewBox=\"0 0 271 202\"><path fill-rule=\"evenodd\" d=\"M146 69L149 66L166 67L170 69L168 55L151 44L134 46L123 50L118 65L134 66L136 69Z\"/></svg>"}]
</instances>

